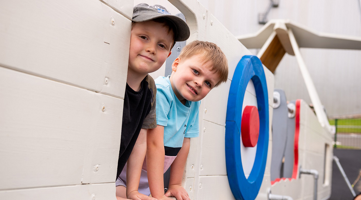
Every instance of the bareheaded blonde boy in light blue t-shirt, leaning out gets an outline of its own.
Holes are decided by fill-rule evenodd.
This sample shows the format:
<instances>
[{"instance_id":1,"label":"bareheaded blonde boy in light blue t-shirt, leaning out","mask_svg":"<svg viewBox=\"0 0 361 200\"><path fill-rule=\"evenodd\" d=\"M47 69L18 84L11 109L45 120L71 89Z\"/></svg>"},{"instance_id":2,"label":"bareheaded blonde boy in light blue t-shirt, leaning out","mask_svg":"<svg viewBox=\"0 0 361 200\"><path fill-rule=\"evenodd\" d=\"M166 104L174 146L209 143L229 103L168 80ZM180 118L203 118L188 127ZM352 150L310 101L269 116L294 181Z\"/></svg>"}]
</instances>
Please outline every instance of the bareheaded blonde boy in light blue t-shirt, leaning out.
<instances>
[{"instance_id":1,"label":"bareheaded blonde boy in light blue t-shirt, leaning out","mask_svg":"<svg viewBox=\"0 0 361 200\"><path fill-rule=\"evenodd\" d=\"M138 191L158 200L190 200L182 187L190 138L199 135L199 105L210 90L227 81L226 56L216 44L193 41L183 48L168 77L155 80L157 127L147 132L147 155ZM163 174L171 166L164 194ZM126 179L123 170L117 181Z\"/></svg>"}]
</instances>

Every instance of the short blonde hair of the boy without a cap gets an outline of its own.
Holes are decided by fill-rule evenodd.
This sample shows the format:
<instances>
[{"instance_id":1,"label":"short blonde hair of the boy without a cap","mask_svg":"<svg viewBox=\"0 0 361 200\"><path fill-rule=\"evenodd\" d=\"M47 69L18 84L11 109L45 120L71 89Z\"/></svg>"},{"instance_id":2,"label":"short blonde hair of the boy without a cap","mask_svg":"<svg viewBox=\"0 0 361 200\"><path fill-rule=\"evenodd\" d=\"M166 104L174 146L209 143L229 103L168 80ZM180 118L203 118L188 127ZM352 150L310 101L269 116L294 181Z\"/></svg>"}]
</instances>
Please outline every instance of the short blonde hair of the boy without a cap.
<instances>
[{"instance_id":1,"label":"short blonde hair of the boy without a cap","mask_svg":"<svg viewBox=\"0 0 361 200\"><path fill-rule=\"evenodd\" d=\"M228 61L225 54L216 44L212 42L195 40L187 44L179 55L179 59L188 59L194 55L201 55L204 62L212 63L211 71L218 74L219 82L214 86L226 82L228 78Z\"/></svg>"}]
</instances>

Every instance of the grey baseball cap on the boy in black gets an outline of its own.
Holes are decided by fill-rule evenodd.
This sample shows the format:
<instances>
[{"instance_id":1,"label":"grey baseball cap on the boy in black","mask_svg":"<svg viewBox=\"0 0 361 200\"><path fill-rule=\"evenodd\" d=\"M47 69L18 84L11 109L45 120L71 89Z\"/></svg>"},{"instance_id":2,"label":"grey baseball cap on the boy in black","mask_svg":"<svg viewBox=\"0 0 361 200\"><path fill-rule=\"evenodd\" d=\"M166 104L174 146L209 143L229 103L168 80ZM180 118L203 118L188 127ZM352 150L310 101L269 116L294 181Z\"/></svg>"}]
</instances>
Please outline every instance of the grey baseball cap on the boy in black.
<instances>
[{"instance_id":1,"label":"grey baseball cap on the boy in black","mask_svg":"<svg viewBox=\"0 0 361 200\"><path fill-rule=\"evenodd\" d=\"M165 17L174 23L177 29L174 41L180 42L189 38L190 30L187 23L182 18L170 14L164 6L141 3L133 8L133 22L145 22L160 17Z\"/></svg>"}]
</instances>

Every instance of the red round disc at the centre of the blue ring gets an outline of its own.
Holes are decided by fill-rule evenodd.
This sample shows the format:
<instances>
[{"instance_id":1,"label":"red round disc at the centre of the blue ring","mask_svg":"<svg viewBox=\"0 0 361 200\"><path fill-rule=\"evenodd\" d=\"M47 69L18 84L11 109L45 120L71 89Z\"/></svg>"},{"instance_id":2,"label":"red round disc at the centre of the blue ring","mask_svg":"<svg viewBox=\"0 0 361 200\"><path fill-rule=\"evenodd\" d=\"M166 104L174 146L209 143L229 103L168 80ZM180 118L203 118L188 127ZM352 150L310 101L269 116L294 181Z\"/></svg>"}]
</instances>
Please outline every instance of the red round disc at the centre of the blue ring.
<instances>
[{"instance_id":1,"label":"red round disc at the centre of the blue ring","mask_svg":"<svg viewBox=\"0 0 361 200\"><path fill-rule=\"evenodd\" d=\"M246 106L241 121L242 142L245 147L255 147L260 134L260 117L256 106Z\"/></svg>"}]
</instances>

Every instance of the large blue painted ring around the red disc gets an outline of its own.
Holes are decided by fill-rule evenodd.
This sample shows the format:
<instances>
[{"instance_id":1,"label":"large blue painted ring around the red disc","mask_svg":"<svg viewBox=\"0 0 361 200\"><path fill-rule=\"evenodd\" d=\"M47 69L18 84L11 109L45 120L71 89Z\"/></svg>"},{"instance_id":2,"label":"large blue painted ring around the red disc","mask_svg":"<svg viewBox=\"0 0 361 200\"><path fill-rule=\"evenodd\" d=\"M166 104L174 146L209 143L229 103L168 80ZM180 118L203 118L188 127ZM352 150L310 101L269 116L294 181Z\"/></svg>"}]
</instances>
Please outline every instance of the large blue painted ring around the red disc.
<instances>
[{"instance_id":1,"label":"large blue painted ring around the red disc","mask_svg":"<svg viewBox=\"0 0 361 200\"><path fill-rule=\"evenodd\" d=\"M249 80L253 81L257 96L260 133L251 174L244 175L240 152L242 104ZM226 117L226 166L231 191L237 200L254 200L264 176L269 139L268 90L262 63L256 56L243 56L231 82Z\"/></svg>"}]
</instances>

